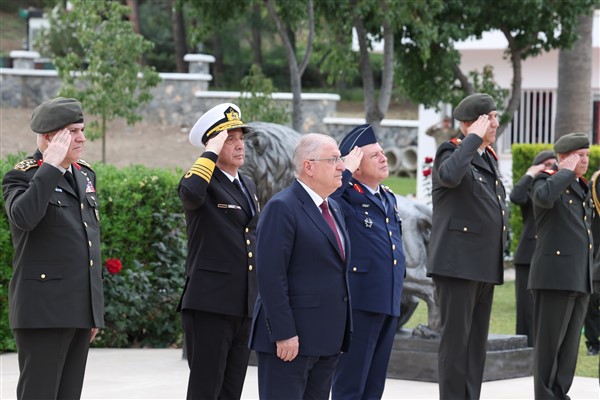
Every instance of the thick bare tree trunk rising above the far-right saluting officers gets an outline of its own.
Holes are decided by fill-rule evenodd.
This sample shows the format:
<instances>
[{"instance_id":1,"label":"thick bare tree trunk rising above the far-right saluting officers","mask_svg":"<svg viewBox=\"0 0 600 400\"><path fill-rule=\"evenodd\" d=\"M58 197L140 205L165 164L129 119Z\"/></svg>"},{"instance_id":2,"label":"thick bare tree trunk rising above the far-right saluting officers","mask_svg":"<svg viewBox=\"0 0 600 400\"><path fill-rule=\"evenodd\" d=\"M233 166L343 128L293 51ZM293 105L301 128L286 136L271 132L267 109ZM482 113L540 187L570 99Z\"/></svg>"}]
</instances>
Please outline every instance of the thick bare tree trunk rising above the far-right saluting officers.
<instances>
[{"instance_id":1,"label":"thick bare tree trunk rising above the far-right saluting officers","mask_svg":"<svg viewBox=\"0 0 600 400\"><path fill-rule=\"evenodd\" d=\"M592 25L593 14L579 17L579 39L558 53L558 89L554 138L592 129Z\"/></svg>"}]
</instances>

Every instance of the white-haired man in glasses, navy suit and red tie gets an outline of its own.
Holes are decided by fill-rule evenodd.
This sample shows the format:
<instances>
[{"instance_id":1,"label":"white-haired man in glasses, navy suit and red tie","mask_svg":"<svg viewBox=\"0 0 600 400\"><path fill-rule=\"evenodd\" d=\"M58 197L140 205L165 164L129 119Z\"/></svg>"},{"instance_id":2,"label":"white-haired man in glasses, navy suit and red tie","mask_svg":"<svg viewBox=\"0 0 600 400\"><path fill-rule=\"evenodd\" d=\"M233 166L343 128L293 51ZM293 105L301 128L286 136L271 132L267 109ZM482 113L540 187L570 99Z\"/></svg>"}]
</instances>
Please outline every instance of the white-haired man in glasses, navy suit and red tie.
<instances>
[{"instance_id":1,"label":"white-haired man in glasses, navy suit and red tie","mask_svg":"<svg viewBox=\"0 0 600 400\"><path fill-rule=\"evenodd\" d=\"M259 296L250 347L261 399L327 399L351 330L350 242L338 204L342 183L335 140L304 135L295 180L273 196L258 225Z\"/></svg>"}]
</instances>

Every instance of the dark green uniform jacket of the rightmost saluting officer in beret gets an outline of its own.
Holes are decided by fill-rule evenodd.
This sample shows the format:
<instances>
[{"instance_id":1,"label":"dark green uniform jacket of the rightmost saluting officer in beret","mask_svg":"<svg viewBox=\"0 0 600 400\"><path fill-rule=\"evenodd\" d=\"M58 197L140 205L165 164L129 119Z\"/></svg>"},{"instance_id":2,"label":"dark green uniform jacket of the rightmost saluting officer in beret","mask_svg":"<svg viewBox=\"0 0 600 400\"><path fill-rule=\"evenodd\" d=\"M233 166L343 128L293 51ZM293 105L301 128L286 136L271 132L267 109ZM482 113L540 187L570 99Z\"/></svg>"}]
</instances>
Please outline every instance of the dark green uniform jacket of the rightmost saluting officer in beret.
<instances>
[{"instance_id":1,"label":"dark green uniform jacket of the rightmost saluting officer in beret","mask_svg":"<svg viewBox=\"0 0 600 400\"><path fill-rule=\"evenodd\" d=\"M592 291L592 200L583 179L567 169L533 180L537 246L529 289Z\"/></svg>"}]
</instances>

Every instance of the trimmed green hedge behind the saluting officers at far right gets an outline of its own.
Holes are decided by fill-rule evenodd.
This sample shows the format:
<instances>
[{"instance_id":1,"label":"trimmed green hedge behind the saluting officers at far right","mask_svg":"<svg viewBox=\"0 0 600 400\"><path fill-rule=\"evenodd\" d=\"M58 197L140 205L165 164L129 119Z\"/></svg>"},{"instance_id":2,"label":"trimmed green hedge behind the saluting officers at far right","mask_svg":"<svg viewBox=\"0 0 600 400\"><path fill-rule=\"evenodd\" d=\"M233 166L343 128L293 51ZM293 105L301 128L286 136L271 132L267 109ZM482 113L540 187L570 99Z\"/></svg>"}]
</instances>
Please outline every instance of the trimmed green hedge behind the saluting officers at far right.
<instances>
[{"instance_id":1,"label":"trimmed green hedge behind the saluting officers at far right","mask_svg":"<svg viewBox=\"0 0 600 400\"><path fill-rule=\"evenodd\" d=\"M552 150L552 144L513 144L512 145L512 173L513 186L527 172L527 168L531 166L531 161L537 153L542 150ZM600 169L600 145L592 145L590 147L590 166L585 174L586 179L590 179L592 174ZM521 227L523 221L521 219L521 210L518 205L511 203L510 208L510 226L511 226L511 253L517 249L519 236L521 235Z\"/></svg>"}]
</instances>

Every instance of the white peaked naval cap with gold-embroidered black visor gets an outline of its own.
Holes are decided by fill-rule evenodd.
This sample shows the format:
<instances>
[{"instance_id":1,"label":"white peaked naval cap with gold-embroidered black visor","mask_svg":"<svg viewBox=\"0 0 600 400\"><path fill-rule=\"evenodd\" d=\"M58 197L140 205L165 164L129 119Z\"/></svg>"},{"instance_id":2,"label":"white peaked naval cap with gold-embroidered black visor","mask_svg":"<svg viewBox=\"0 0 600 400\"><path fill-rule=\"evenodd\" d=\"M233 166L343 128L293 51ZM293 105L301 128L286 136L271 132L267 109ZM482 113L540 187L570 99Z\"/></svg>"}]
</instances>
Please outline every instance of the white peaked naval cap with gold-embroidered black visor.
<instances>
[{"instance_id":1,"label":"white peaked naval cap with gold-embroidered black visor","mask_svg":"<svg viewBox=\"0 0 600 400\"><path fill-rule=\"evenodd\" d=\"M233 103L219 104L196 121L190 131L190 143L201 147L213 134L236 128L241 128L244 135L251 131L251 128L242 122L242 113L238 106Z\"/></svg>"}]
</instances>

